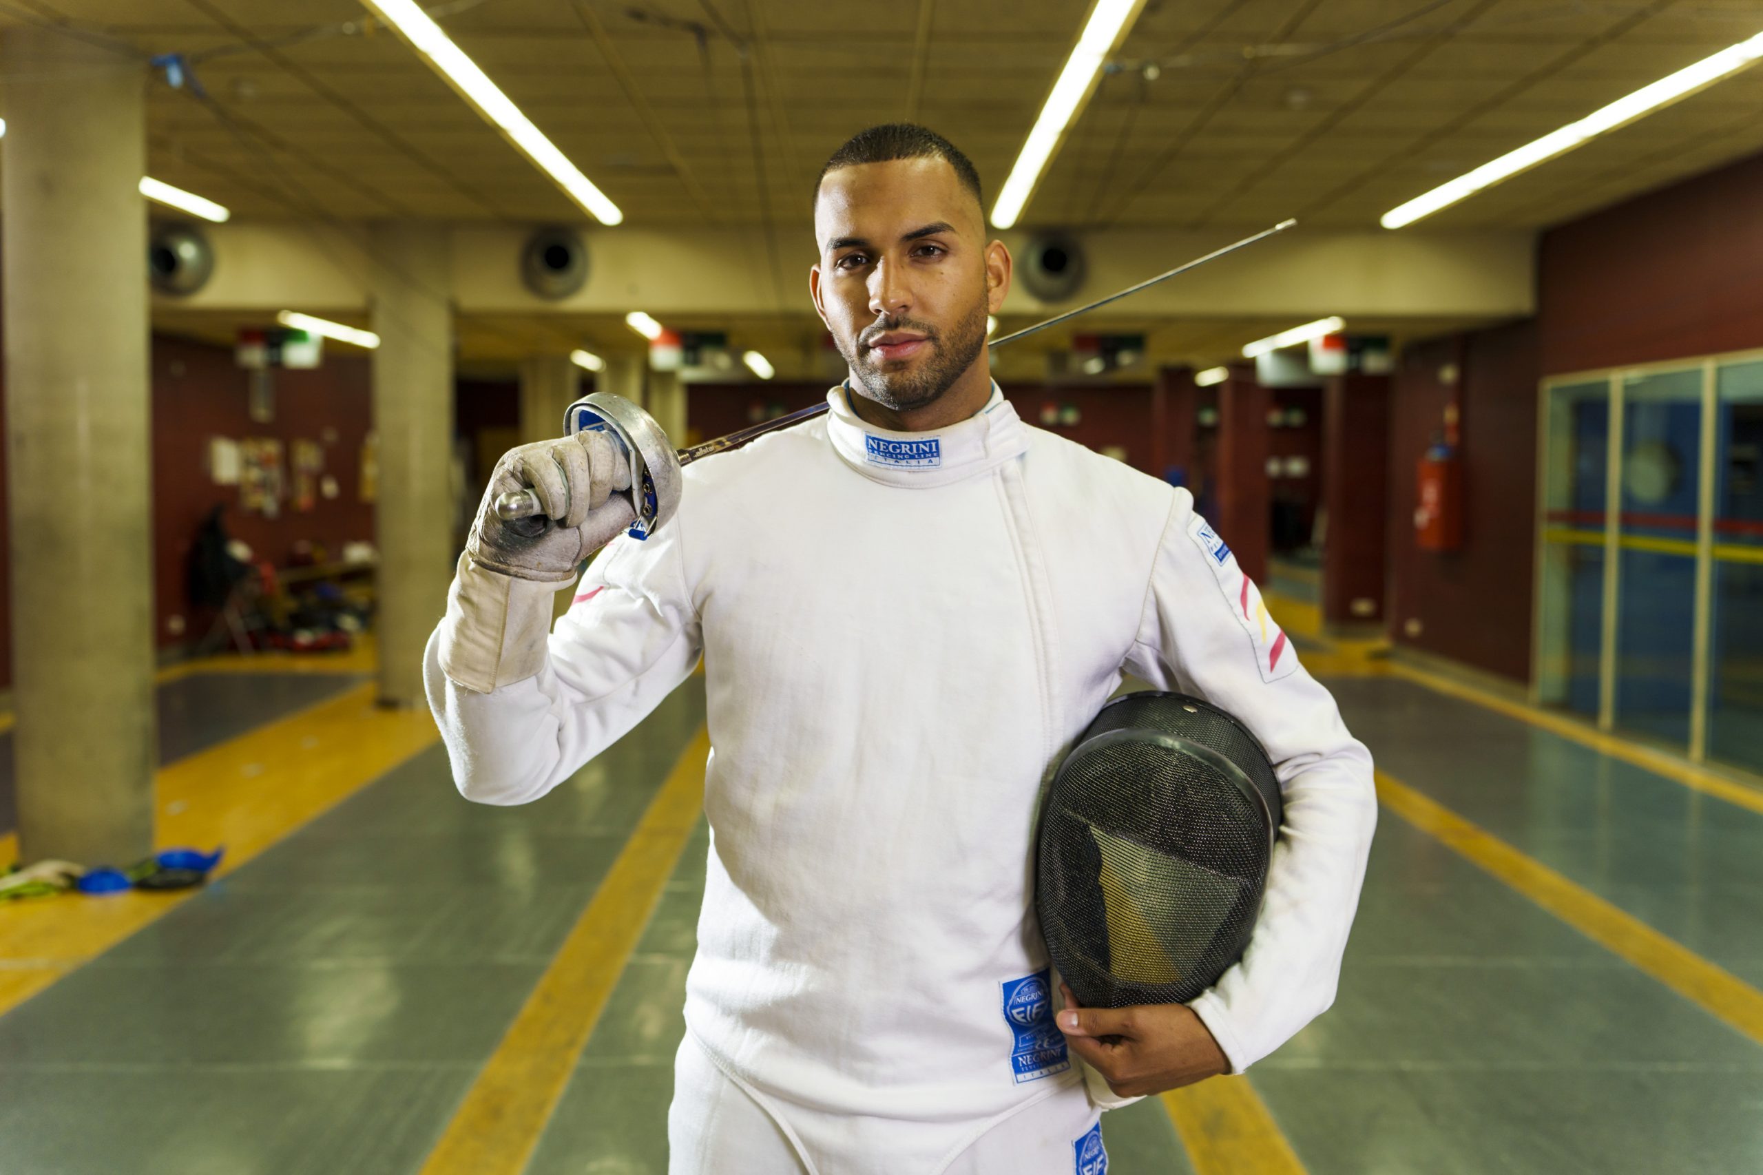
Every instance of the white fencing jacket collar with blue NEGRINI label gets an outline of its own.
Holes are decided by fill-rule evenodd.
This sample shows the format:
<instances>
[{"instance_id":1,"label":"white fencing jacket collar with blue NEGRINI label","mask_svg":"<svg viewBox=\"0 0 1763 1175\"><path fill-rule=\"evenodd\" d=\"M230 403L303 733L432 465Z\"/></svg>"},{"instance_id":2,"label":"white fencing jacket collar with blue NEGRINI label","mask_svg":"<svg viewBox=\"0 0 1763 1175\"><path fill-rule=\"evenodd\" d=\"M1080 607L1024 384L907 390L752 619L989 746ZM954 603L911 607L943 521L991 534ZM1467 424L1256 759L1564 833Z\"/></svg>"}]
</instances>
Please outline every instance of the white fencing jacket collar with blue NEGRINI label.
<instances>
[{"instance_id":1,"label":"white fencing jacket collar with blue NEGRINI label","mask_svg":"<svg viewBox=\"0 0 1763 1175\"><path fill-rule=\"evenodd\" d=\"M827 436L857 473L883 485L929 489L996 469L1028 452L1028 429L1003 399L998 381L986 408L959 423L929 432L889 432L852 411L850 392L827 392Z\"/></svg>"}]
</instances>

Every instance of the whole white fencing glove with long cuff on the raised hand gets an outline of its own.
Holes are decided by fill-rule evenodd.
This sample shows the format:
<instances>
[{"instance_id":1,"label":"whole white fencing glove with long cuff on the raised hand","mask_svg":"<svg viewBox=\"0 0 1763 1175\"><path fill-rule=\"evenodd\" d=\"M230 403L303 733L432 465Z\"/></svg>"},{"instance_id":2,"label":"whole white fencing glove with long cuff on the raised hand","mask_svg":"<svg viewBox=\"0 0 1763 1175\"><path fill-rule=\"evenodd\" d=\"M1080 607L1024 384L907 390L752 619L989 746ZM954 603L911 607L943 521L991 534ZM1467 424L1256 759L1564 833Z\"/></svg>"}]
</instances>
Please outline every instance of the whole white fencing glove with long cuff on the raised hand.
<instances>
[{"instance_id":1,"label":"whole white fencing glove with long cuff on the raised hand","mask_svg":"<svg viewBox=\"0 0 1763 1175\"><path fill-rule=\"evenodd\" d=\"M545 669L552 596L575 568L635 519L631 466L605 432L577 432L510 450L490 475L441 621L441 672L478 693ZM504 522L502 494L531 489L543 517Z\"/></svg>"}]
</instances>

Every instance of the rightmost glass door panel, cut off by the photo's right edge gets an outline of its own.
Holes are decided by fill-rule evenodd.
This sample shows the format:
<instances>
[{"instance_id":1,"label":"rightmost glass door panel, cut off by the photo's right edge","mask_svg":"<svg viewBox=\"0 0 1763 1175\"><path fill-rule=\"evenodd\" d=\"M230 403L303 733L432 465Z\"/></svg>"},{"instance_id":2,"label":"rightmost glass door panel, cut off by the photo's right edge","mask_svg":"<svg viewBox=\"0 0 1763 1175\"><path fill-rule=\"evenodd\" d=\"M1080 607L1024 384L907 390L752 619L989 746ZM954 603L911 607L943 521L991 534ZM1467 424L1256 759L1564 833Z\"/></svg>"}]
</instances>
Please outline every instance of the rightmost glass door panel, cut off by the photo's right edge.
<instances>
[{"instance_id":1,"label":"rightmost glass door panel, cut off by the photo's right edge","mask_svg":"<svg viewBox=\"0 0 1763 1175\"><path fill-rule=\"evenodd\" d=\"M1708 757L1763 771L1763 362L1715 386Z\"/></svg>"}]
</instances>

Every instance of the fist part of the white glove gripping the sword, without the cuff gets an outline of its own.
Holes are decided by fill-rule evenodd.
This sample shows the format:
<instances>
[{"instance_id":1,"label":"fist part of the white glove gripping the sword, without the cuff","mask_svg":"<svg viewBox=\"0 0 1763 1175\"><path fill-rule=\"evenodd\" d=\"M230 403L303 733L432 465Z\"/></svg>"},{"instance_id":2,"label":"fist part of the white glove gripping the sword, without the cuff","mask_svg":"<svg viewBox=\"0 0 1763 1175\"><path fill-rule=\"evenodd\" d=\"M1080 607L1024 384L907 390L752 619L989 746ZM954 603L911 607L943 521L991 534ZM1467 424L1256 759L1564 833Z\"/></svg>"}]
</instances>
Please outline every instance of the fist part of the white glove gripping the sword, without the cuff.
<instances>
[{"instance_id":1,"label":"fist part of the white glove gripping the sword, without the cuff","mask_svg":"<svg viewBox=\"0 0 1763 1175\"><path fill-rule=\"evenodd\" d=\"M635 519L626 498L631 464L606 432L577 432L508 450L478 506L465 554L488 572L547 582L573 582L582 559L594 554ZM531 489L545 517L504 520L495 513L502 494Z\"/></svg>"}]
</instances>

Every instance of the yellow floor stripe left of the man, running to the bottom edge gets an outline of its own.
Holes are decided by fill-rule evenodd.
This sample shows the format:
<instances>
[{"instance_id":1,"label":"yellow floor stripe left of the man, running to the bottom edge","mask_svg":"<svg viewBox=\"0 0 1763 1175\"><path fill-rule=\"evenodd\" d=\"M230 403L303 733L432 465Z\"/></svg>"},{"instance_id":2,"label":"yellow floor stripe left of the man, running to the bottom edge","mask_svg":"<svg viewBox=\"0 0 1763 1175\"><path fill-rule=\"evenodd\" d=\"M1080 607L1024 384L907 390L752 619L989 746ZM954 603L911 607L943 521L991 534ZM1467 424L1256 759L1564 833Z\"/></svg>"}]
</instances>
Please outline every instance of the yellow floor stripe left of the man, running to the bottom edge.
<instances>
[{"instance_id":1,"label":"yellow floor stripe left of the man, running to the bottom edge","mask_svg":"<svg viewBox=\"0 0 1763 1175\"><path fill-rule=\"evenodd\" d=\"M709 753L710 736L700 729L465 1094L421 1175L525 1170L698 822Z\"/></svg>"}]
</instances>

